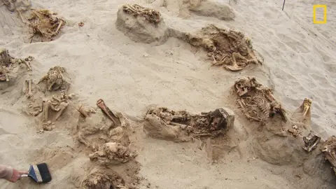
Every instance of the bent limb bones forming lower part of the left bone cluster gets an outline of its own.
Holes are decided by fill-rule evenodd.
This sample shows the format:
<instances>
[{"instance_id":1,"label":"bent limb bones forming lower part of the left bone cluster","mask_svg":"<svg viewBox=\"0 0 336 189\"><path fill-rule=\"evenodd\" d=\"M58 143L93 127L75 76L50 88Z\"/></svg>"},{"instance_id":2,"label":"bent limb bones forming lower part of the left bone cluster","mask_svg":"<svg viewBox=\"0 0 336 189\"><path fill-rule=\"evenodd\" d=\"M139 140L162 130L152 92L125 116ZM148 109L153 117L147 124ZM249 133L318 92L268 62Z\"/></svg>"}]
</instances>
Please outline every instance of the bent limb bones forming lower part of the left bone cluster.
<instances>
[{"instance_id":1,"label":"bent limb bones forming lower part of the left bone cluster","mask_svg":"<svg viewBox=\"0 0 336 189\"><path fill-rule=\"evenodd\" d=\"M54 94L50 99L43 99L43 120L45 122L55 121L59 116L64 113L66 107L68 106L68 100L73 97L73 94L66 95L64 90L60 92L59 95ZM52 112L56 112L54 115L50 115L50 109Z\"/></svg>"}]
</instances>

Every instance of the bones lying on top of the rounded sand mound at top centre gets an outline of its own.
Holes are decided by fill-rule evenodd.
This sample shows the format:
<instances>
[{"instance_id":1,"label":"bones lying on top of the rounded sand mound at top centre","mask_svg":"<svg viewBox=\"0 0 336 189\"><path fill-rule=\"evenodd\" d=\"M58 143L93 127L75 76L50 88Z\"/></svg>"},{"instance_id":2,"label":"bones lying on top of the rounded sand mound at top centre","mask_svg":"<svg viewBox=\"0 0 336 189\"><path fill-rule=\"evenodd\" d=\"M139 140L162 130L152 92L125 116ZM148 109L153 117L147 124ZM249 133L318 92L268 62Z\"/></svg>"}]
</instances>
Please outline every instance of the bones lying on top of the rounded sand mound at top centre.
<instances>
[{"instance_id":1,"label":"bones lying on top of the rounded sand mound at top centre","mask_svg":"<svg viewBox=\"0 0 336 189\"><path fill-rule=\"evenodd\" d=\"M123 10L125 13L132 14L134 16L138 16L138 15L144 16L144 18L146 18L148 22L151 22L155 25L161 21L160 19L161 14L158 11L153 10L151 8L144 8L137 4L133 4L133 5L126 4L123 6Z\"/></svg>"}]
</instances>

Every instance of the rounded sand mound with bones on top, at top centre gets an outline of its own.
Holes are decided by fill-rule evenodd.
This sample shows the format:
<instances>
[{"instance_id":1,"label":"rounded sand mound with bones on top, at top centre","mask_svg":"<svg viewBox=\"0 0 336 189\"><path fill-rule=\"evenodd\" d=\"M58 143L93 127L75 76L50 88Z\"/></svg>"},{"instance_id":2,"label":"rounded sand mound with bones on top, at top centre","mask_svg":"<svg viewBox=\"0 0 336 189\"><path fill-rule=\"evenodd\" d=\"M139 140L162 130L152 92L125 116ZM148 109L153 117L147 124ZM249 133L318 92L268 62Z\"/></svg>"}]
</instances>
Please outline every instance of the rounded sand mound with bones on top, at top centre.
<instances>
[{"instance_id":1,"label":"rounded sand mound with bones on top, at top centre","mask_svg":"<svg viewBox=\"0 0 336 189\"><path fill-rule=\"evenodd\" d=\"M116 27L135 42L161 44L168 38L160 13L137 4L119 8Z\"/></svg>"}]
</instances>

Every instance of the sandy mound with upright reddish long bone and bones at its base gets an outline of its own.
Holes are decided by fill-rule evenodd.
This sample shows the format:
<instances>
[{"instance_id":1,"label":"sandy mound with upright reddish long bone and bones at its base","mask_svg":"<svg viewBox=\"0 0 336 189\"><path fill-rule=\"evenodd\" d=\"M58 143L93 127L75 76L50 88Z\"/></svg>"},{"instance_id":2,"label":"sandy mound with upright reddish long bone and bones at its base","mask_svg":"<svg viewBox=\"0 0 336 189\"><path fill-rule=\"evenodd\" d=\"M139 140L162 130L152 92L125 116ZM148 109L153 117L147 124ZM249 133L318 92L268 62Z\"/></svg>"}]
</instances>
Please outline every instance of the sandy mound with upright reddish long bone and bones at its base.
<instances>
[{"instance_id":1,"label":"sandy mound with upright reddish long bone and bones at its base","mask_svg":"<svg viewBox=\"0 0 336 189\"><path fill-rule=\"evenodd\" d=\"M101 165L128 162L137 156L130 151L130 122L120 112L111 111L102 99L97 101L102 111L92 107L78 106L77 139L91 148L90 160Z\"/></svg>"}]
</instances>

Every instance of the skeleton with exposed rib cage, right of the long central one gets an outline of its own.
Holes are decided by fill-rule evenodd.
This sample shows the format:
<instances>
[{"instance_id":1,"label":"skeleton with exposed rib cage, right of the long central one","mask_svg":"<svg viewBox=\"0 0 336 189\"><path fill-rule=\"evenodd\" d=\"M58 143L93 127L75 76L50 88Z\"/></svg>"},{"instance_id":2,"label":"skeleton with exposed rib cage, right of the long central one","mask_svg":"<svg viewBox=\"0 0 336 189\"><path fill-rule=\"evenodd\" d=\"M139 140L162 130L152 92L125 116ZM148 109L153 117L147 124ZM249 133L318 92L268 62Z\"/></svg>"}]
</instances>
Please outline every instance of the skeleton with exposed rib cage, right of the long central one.
<instances>
[{"instance_id":1,"label":"skeleton with exposed rib cage, right of the long central one","mask_svg":"<svg viewBox=\"0 0 336 189\"><path fill-rule=\"evenodd\" d=\"M245 77L235 81L237 102L250 120L265 122L279 114L286 122L286 111L274 99L272 90L263 86L255 78Z\"/></svg>"}]
</instances>

